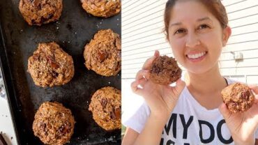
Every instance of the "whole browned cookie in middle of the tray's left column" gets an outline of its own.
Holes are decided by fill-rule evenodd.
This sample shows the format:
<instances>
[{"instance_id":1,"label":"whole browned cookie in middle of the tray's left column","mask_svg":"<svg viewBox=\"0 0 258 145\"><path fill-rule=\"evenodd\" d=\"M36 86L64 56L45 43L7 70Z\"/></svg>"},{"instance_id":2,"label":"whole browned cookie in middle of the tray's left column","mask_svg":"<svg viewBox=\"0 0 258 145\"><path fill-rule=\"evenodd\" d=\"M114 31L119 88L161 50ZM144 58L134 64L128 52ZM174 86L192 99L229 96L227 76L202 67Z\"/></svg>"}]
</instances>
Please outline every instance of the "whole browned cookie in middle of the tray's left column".
<instances>
[{"instance_id":1,"label":"whole browned cookie in middle of the tray's left column","mask_svg":"<svg viewBox=\"0 0 258 145\"><path fill-rule=\"evenodd\" d=\"M28 60L28 72L37 86L59 86L73 78L73 58L56 43L39 43Z\"/></svg>"}]
</instances>

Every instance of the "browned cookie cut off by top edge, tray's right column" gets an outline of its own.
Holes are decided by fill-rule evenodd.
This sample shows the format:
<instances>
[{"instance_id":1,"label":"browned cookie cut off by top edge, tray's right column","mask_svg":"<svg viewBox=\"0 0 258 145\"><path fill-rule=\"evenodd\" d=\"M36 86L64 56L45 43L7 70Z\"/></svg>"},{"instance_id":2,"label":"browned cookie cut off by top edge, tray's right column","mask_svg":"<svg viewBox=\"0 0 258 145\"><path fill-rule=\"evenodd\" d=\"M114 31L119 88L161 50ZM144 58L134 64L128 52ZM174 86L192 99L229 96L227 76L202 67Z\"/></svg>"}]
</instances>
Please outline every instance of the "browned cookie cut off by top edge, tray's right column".
<instances>
[{"instance_id":1,"label":"browned cookie cut off by top edge, tray's right column","mask_svg":"<svg viewBox=\"0 0 258 145\"><path fill-rule=\"evenodd\" d=\"M121 10L121 0L81 0L82 8L97 17L111 17Z\"/></svg>"}]
</instances>

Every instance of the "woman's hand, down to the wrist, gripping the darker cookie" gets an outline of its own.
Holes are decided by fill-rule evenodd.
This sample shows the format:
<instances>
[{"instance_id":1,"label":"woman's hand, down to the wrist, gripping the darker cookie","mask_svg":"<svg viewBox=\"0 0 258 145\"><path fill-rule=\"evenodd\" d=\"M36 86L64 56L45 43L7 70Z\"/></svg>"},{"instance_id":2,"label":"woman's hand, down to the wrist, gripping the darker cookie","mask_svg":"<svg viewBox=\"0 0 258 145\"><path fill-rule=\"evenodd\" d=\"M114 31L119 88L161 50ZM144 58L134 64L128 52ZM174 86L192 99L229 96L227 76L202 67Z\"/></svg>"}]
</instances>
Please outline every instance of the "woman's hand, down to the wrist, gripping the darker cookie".
<instances>
[{"instance_id":1,"label":"woman's hand, down to the wrist, gripping the darker cookie","mask_svg":"<svg viewBox=\"0 0 258 145\"><path fill-rule=\"evenodd\" d=\"M176 86L165 86L151 82L149 80L151 64L158 56L160 56L159 52L155 51L154 56L146 60L142 70L137 73L135 82L132 82L131 89L145 99L151 109L151 115L167 122L185 87L185 82L179 79L176 81Z\"/></svg>"}]
</instances>

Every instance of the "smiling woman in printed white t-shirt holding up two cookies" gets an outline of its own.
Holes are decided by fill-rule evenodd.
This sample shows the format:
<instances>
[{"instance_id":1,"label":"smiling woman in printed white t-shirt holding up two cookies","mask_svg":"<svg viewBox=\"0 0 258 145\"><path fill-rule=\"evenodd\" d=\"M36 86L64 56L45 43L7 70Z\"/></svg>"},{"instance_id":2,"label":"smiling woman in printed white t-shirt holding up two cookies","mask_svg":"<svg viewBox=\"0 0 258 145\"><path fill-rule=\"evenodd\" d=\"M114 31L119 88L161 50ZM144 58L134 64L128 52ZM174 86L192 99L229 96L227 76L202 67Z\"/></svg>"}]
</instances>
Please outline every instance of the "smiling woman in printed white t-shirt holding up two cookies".
<instances>
[{"instance_id":1,"label":"smiling woman in printed white t-shirt holding up two cookies","mask_svg":"<svg viewBox=\"0 0 258 145\"><path fill-rule=\"evenodd\" d=\"M231 35L220 0L167 1L165 32L176 60L186 69L184 82L161 86L149 81L156 51L131 84L146 103L123 121L127 130L122 144L255 144L258 87L250 85L256 100L243 113L230 113L220 94L233 83L222 77L218 66Z\"/></svg>"}]
</instances>

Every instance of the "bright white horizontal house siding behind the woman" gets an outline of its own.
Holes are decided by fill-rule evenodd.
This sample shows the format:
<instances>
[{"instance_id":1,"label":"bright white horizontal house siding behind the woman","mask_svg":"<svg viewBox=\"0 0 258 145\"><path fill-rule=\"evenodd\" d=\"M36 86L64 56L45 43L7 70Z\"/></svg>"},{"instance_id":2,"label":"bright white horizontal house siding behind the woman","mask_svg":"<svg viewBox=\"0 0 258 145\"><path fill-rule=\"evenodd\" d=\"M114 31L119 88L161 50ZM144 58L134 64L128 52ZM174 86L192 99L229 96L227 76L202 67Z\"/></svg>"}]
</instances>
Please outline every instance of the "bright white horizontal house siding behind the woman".
<instances>
[{"instance_id":1,"label":"bright white horizontal house siding behind the woman","mask_svg":"<svg viewBox=\"0 0 258 145\"><path fill-rule=\"evenodd\" d=\"M154 50L173 56L162 33L167 0L122 0L122 119L142 103L130 83ZM258 0L222 0L232 36L220 57L222 75L258 84ZM184 70L184 68L183 68Z\"/></svg>"}]
</instances>

